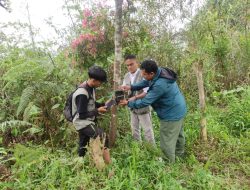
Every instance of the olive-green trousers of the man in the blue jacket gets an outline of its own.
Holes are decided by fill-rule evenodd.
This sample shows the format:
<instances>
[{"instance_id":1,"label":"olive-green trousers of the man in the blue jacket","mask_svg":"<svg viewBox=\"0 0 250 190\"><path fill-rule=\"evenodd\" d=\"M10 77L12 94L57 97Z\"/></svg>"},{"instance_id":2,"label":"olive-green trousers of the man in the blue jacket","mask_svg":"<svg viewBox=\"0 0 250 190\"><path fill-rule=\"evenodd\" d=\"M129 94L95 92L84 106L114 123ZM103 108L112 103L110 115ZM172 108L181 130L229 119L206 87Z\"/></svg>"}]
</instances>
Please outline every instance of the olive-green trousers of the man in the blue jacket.
<instances>
[{"instance_id":1,"label":"olive-green trousers of the man in the blue jacket","mask_svg":"<svg viewBox=\"0 0 250 190\"><path fill-rule=\"evenodd\" d=\"M183 119L179 121L161 121L160 146L166 160L175 162L175 156L184 154L185 137Z\"/></svg>"}]
</instances>

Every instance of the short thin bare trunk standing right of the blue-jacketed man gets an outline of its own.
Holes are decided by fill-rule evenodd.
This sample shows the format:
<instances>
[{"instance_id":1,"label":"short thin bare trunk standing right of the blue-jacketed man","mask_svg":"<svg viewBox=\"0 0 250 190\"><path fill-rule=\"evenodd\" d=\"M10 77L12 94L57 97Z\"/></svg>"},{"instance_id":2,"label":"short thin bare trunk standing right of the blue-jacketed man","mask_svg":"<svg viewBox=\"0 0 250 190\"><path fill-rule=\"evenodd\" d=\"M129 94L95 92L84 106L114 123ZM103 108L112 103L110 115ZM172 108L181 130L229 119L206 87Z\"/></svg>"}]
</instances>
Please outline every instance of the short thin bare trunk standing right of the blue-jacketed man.
<instances>
[{"instance_id":1,"label":"short thin bare trunk standing right of the blue-jacketed man","mask_svg":"<svg viewBox=\"0 0 250 190\"><path fill-rule=\"evenodd\" d=\"M194 70L197 78L197 85L199 91L199 102L201 110L201 120L200 120L200 136L203 142L207 141L207 128L206 128L206 102L205 102L205 89L202 76L202 62L197 62L194 64Z\"/></svg>"}]
</instances>

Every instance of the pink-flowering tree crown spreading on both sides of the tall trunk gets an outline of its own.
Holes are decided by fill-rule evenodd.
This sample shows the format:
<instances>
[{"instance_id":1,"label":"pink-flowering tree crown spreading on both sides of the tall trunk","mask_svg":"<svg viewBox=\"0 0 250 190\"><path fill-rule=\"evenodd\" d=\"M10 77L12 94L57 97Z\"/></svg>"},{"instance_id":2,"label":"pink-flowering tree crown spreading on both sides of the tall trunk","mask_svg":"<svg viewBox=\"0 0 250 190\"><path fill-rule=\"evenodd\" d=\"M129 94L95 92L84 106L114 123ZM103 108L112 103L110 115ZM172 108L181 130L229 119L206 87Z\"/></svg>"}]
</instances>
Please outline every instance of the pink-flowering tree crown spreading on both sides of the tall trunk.
<instances>
[{"instance_id":1,"label":"pink-flowering tree crown spreading on both sides of the tall trunk","mask_svg":"<svg viewBox=\"0 0 250 190\"><path fill-rule=\"evenodd\" d=\"M122 56L137 54L143 59L148 55L143 52L151 48L151 31L140 17L129 17L131 11L127 1L123 2L123 10ZM112 9L105 1L94 1L83 10L81 33L71 42L71 49L66 53L73 67L85 69L97 63L108 68L112 76L113 62L107 59L114 56L114 16L114 7Z\"/></svg>"}]
</instances>

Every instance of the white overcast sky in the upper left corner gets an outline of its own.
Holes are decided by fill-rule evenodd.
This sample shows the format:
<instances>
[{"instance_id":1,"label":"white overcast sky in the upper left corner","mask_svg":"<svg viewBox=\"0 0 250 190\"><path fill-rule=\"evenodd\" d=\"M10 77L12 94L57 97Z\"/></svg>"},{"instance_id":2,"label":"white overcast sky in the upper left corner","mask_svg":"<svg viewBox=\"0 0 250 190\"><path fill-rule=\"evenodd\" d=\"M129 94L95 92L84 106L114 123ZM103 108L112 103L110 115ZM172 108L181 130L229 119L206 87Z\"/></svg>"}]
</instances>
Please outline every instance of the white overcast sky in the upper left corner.
<instances>
[{"instance_id":1,"label":"white overcast sky in the upper left corner","mask_svg":"<svg viewBox=\"0 0 250 190\"><path fill-rule=\"evenodd\" d=\"M69 17L63 14L62 6L64 0L10 0L12 11L9 13L0 8L0 22L22 22L28 23L27 4L29 6L31 24L39 29L38 38L53 39L56 34L46 24L45 19L53 17L54 25L65 27L70 24Z\"/></svg>"}]
</instances>

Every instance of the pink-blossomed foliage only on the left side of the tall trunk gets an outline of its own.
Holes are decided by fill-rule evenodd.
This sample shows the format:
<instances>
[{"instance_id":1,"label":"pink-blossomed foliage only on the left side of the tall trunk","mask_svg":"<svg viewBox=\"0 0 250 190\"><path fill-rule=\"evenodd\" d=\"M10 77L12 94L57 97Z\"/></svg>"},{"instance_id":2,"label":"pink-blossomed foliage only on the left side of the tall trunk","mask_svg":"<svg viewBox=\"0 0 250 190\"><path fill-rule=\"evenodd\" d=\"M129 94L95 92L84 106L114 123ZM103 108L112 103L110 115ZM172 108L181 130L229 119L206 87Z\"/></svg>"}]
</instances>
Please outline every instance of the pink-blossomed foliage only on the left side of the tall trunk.
<instances>
[{"instance_id":1,"label":"pink-blossomed foliage only on the left side of the tall trunk","mask_svg":"<svg viewBox=\"0 0 250 190\"><path fill-rule=\"evenodd\" d=\"M72 65L88 68L94 63L105 63L114 49L114 27L108 6L85 8L81 24L81 34L71 43Z\"/></svg>"}]
</instances>

